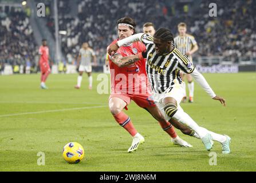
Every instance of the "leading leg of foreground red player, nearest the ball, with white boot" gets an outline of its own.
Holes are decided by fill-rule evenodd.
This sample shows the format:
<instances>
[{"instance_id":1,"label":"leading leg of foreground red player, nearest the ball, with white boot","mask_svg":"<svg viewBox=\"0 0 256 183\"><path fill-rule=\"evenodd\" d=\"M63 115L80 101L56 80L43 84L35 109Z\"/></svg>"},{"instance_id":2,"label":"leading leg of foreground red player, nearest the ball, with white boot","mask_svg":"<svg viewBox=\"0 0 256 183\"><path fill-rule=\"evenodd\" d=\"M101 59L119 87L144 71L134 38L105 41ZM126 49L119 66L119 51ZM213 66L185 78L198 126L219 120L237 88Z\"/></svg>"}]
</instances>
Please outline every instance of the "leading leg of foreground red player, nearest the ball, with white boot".
<instances>
[{"instance_id":1,"label":"leading leg of foreground red player, nearest the ball, with white boot","mask_svg":"<svg viewBox=\"0 0 256 183\"><path fill-rule=\"evenodd\" d=\"M137 150L140 144L144 143L144 137L141 136L134 128L131 119L127 114L123 112L125 106L127 106L126 102L121 100L120 98L113 97L109 100L109 110L113 117L115 118L116 122L119 123L131 136L133 137L132 145L128 149L128 153L132 153L133 151Z\"/></svg>"}]
</instances>

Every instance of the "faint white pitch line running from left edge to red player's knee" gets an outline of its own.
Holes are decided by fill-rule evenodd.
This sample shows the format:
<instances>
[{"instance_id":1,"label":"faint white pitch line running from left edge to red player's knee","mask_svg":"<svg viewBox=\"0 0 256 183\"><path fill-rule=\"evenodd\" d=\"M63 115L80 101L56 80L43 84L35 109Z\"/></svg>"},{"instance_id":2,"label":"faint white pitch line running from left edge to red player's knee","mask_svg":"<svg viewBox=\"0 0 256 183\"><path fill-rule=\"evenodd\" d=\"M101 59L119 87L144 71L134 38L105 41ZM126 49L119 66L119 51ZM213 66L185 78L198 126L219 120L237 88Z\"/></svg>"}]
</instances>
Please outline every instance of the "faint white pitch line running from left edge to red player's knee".
<instances>
[{"instance_id":1,"label":"faint white pitch line running from left edge to red player's knee","mask_svg":"<svg viewBox=\"0 0 256 183\"><path fill-rule=\"evenodd\" d=\"M43 110L43 111L38 111L38 112L17 113L17 114L4 114L4 115L0 115L0 117L21 116L21 115L27 115L27 114L54 113L54 112L62 112L62 111L67 111L67 110L93 109L93 108L104 108L104 107L107 107L107 105L91 106L91 107L84 107L84 108Z\"/></svg>"}]
</instances>

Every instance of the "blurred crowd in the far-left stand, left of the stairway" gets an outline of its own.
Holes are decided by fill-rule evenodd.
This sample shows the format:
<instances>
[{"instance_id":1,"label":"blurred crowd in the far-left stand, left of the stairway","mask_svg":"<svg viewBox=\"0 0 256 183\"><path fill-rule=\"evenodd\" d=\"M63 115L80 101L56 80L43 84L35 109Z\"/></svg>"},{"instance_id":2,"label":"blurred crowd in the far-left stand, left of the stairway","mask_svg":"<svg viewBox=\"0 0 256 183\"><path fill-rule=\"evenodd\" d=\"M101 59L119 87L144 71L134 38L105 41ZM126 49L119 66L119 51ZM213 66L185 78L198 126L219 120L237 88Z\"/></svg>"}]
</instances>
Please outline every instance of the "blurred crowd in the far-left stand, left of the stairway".
<instances>
[{"instance_id":1,"label":"blurred crowd in the far-left stand, left of the stairway","mask_svg":"<svg viewBox=\"0 0 256 183\"><path fill-rule=\"evenodd\" d=\"M24 68L36 67L35 57L38 53L29 25L29 18L21 8L9 13L0 13L0 70L5 64L23 66ZM17 69L16 69L17 70Z\"/></svg>"}]
</instances>

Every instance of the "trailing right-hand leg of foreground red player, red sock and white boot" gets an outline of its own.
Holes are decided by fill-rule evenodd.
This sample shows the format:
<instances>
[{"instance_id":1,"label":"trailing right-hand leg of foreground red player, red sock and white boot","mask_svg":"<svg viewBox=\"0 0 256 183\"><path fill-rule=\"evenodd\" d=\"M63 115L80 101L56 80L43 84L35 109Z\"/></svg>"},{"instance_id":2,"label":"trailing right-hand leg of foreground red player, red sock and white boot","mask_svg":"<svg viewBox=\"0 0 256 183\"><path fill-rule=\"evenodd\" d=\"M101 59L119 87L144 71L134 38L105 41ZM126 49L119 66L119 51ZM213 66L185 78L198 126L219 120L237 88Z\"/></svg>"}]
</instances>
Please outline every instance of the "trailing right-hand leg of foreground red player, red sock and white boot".
<instances>
[{"instance_id":1,"label":"trailing right-hand leg of foreground red player, red sock and white boot","mask_svg":"<svg viewBox=\"0 0 256 183\"><path fill-rule=\"evenodd\" d=\"M145 108L160 124L160 126L162 127L162 129L169 134L169 136L172 138L172 143L175 145L180 145L180 146L184 146L187 148L192 147L191 144L189 144L188 142L182 140L182 138L180 138L178 136L178 134L176 134L174 127L172 126L172 124L170 122L168 122L166 120L166 118L164 118L164 116L162 115L162 113L160 112L160 110L157 108L157 106L154 107L148 107ZM181 126L181 125L180 125ZM187 133L192 133L192 130L187 128L186 126L183 126L184 130L187 130Z\"/></svg>"}]
</instances>

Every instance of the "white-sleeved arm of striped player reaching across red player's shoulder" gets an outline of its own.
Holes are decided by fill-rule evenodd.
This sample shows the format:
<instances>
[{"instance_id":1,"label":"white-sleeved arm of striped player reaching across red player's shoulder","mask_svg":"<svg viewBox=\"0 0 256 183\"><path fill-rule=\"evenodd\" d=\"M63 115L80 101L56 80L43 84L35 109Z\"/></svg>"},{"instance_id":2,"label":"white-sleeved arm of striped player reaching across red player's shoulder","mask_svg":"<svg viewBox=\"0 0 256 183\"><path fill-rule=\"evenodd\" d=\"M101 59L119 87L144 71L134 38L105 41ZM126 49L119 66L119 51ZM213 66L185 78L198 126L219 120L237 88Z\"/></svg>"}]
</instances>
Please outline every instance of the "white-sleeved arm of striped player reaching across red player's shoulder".
<instances>
[{"instance_id":1,"label":"white-sleeved arm of striped player reaching across red player's shoulder","mask_svg":"<svg viewBox=\"0 0 256 183\"><path fill-rule=\"evenodd\" d=\"M131 35L128 38L124 38L124 39L121 39L121 40L117 41L115 44L109 46L108 54L109 55L115 54L120 46L127 45L127 44L132 43L132 42L141 41L140 38L142 37L143 34L144 33L134 34L134 35Z\"/></svg>"}]
</instances>

